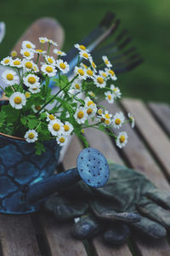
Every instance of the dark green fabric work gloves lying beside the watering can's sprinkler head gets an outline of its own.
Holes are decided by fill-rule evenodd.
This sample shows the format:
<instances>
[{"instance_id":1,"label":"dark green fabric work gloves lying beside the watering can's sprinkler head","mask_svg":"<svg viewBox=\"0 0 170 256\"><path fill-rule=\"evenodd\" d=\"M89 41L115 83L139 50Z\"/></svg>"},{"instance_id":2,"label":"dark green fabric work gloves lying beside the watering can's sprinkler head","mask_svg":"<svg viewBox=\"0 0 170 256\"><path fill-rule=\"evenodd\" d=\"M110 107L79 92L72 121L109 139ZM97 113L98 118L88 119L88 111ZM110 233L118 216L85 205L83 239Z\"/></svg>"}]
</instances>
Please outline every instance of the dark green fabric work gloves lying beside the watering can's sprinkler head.
<instances>
[{"instance_id":1,"label":"dark green fabric work gloves lying beside the watering can's sprinkler head","mask_svg":"<svg viewBox=\"0 0 170 256\"><path fill-rule=\"evenodd\" d=\"M139 172L113 163L104 187L94 189L81 181L51 195L44 207L59 220L80 217L73 228L79 239L102 231L105 241L122 243L131 227L161 238L170 227L170 213L166 210L170 209L170 193L156 189Z\"/></svg>"}]
</instances>

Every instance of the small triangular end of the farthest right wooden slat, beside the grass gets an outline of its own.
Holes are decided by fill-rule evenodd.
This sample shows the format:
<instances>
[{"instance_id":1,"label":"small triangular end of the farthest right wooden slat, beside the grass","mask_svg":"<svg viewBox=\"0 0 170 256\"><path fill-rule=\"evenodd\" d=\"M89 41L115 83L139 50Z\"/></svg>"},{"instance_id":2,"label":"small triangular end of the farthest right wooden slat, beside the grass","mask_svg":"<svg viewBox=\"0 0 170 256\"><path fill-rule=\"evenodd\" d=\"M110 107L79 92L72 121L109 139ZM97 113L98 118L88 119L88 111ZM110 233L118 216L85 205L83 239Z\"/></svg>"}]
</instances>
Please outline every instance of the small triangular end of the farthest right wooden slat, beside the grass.
<instances>
[{"instance_id":1,"label":"small triangular end of the farthest right wooden slat, beside the grass","mask_svg":"<svg viewBox=\"0 0 170 256\"><path fill-rule=\"evenodd\" d=\"M153 103L148 104L151 112L157 119L159 125L161 125L167 134L170 136L170 106L165 103Z\"/></svg>"}]
</instances>

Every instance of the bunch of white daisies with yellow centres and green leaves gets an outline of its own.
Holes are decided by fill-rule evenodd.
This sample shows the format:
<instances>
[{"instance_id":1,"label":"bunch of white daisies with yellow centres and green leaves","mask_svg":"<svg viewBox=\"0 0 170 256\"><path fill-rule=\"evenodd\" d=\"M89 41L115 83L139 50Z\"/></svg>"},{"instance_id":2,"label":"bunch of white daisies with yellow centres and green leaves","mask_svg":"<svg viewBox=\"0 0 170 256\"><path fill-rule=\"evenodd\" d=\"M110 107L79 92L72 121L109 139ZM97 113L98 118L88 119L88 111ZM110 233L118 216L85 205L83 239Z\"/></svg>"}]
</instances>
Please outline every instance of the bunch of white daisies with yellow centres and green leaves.
<instances>
[{"instance_id":1,"label":"bunch of white daisies with yellow centres and green leaves","mask_svg":"<svg viewBox=\"0 0 170 256\"><path fill-rule=\"evenodd\" d=\"M20 50L23 58L13 51L1 61L6 69L0 88L8 104L0 108L0 132L35 143L37 154L44 150L44 141L55 139L62 146L72 134L77 134L88 147L83 135L88 127L108 131L119 148L125 146L127 133L112 132L112 126L122 127L124 114L112 115L99 105L100 100L113 103L122 95L113 84L116 74L111 61L103 56L103 65L96 67L88 49L75 44L78 61L74 72L70 73L70 65L64 61L65 52L57 49L57 44L48 38L39 38L39 42L41 48L37 49L36 45L24 41ZM52 45L53 55L50 54ZM39 61L40 55L43 62ZM49 86L51 81L54 88ZM127 121L134 125L130 114Z\"/></svg>"}]
</instances>

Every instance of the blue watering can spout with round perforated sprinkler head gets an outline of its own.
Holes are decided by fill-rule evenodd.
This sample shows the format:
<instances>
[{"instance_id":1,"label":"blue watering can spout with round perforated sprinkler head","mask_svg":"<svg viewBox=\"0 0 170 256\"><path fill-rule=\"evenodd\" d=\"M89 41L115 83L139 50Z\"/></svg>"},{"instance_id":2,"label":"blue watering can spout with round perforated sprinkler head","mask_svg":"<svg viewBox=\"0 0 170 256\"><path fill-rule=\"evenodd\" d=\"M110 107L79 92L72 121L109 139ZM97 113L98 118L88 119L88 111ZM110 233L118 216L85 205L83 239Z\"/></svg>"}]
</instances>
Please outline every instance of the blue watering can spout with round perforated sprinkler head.
<instances>
[{"instance_id":1,"label":"blue watering can spout with round perforated sprinkler head","mask_svg":"<svg viewBox=\"0 0 170 256\"><path fill-rule=\"evenodd\" d=\"M32 184L26 191L26 201L35 203L81 179L89 186L99 188L109 178L109 165L105 156L95 148L85 148L77 157L77 167Z\"/></svg>"}]
</instances>

